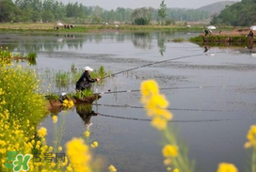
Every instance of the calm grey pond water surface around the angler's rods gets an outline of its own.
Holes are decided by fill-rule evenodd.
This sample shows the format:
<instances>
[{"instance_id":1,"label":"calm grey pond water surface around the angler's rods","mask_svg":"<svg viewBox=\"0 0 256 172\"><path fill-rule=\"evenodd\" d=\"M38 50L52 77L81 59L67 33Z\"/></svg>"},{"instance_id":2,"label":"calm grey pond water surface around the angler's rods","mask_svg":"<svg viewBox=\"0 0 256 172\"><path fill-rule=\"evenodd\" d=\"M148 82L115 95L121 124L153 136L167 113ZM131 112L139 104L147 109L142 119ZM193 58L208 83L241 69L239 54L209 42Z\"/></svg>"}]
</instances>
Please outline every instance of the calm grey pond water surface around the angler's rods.
<instances>
[{"instance_id":1,"label":"calm grey pond water surface around the angler's rods","mask_svg":"<svg viewBox=\"0 0 256 172\"><path fill-rule=\"evenodd\" d=\"M37 52L37 68L71 70L85 66L117 72L168 58L202 54L199 45L168 42L168 39L190 38L198 33L102 33L79 35L0 34L0 45L19 53ZM189 157L196 160L196 171L216 171L218 163L236 164L245 171L247 153L243 149L250 125L256 123L256 58L247 48L210 48L208 52L228 51L216 55L200 55L133 70L108 80L94 91L138 89L141 81L155 79L160 87L226 86L211 88L163 90L174 114L172 125L189 147ZM71 86L69 91L73 90ZM58 91L55 89L55 91ZM103 95L91 117L91 141L97 140L97 156L104 157L104 168L114 164L120 171L165 171L162 164L161 136L141 108L139 93ZM111 116L111 117L109 117ZM126 117L126 118L118 118ZM130 117L130 118L129 118ZM72 109L58 115L65 120L62 146L81 136L87 129ZM48 129L48 143L54 138L51 117L40 124ZM56 133L61 133L60 129Z\"/></svg>"}]
</instances>

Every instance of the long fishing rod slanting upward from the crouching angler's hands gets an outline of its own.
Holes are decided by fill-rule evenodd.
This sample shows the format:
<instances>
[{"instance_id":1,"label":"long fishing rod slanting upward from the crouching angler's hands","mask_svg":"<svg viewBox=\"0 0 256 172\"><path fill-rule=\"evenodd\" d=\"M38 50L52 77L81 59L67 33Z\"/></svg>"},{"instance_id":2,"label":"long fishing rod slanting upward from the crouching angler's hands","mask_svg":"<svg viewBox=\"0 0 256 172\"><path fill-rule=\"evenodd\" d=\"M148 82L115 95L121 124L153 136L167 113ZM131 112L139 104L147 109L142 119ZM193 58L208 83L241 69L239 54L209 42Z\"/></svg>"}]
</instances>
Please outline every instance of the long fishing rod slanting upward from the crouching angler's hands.
<instances>
[{"instance_id":1,"label":"long fishing rod slanting upward from the crouching angler's hands","mask_svg":"<svg viewBox=\"0 0 256 172\"><path fill-rule=\"evenodd\" d=\"M226 53L226 52L227 51L222 51L222 52L216 52L214 54L222 54L222 53ZM113 73L113 74L109 74L109 75L104 76L101 79L104 80L105 78L108 78L108 77L111 77L111 76L115 76L115 75L118 75L120 73L124 73L124 72L131 71L131 70L138 70L138 69L149 67L149 66L152 66L152 65L156 65L156 64L160 64L160 63L165 63L165 62L168 62L168 61L174 61L174 60L190 58L190 57L200 56L200 55L211 55L211 54L213 54L213 53L207 53L207 54L204 53L204 54L198 54L198 55L185 55L185 56L179 56L179 57L175 57L175 58L169 58L167 60L157 61L157 62L154 62L154 63L149 63L149 64L146 64L146 65L138 66L138 67L131 68L131 69L128 69L128 70L122 70L122 71L119 71L119 72L116 72L116 73Z\"/></svg>"}]
</instances>

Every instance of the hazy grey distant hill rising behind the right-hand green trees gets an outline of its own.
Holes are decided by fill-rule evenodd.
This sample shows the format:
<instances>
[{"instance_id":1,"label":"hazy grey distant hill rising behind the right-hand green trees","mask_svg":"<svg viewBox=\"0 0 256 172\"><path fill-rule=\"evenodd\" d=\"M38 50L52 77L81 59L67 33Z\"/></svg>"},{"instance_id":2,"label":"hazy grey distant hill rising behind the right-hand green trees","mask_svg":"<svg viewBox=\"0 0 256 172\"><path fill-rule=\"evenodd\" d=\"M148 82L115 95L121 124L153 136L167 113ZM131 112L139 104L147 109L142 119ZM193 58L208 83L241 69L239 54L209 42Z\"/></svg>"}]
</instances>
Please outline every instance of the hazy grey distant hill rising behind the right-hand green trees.
<instances>
[{"instance_id":1,"label":"hazy grey distant hill rising behind the right-hand green trees","mask_svg":"<svg viewBox=\"0 0 256 172\"><path fill-rule=\"evenodd\" d=\"M223 10L224 8L226 8L226 6L231 6L234 3L237 3L235 1L221 1L221 2L217 2L217 3L213 3L207 6L203 6L201 8L198 8L199 10L202 11L209 11L211 15L213 14L219 14L221 10Z\"/></svg>"}]
</instances>

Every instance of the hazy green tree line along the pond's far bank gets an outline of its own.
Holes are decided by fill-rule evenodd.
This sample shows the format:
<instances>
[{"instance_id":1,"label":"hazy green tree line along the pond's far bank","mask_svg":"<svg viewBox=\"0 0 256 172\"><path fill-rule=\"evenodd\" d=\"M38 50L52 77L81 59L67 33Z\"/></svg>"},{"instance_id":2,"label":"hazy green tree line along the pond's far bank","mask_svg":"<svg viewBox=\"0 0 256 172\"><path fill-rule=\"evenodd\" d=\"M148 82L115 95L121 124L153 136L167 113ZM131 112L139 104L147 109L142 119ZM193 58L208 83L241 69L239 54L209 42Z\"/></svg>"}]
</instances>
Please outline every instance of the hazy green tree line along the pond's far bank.
<instances>
[{"instance_id":1,"label":"hazy green tree line along the pond's far bank","mask_svg":"<svg viewBox=\"0 0 256 172\"><path fill-rule=\"evenodd\" d=\"M209 13L197 9L167 8L163 0L160 8L117 8L105 10L86 7L81 3L64 5L57 0L0 0L0 22L72 22L72 23L135 23L149 24L163 21L199 21Z\"/></svg>"}]
</instances>

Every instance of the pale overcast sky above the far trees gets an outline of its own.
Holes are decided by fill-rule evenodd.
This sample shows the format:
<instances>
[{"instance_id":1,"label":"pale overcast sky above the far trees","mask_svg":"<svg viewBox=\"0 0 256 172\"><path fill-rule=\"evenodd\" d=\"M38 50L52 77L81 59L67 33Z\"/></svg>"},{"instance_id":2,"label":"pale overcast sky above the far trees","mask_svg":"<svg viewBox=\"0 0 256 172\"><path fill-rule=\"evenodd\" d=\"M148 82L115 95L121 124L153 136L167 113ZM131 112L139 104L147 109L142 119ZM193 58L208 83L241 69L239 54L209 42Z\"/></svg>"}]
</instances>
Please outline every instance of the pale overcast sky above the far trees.
<instances>
[{"instance_id":1,"label":"pale overcast sky above the far trees","mask_svg":"<svg viewBox=\"0 0 256 172\"><path fill-rule=\"evenodd\" d=\"M121 8L159 8L162 0L60 0L64 4L69 2L79 2L85 6L100 6L105 9ZM200 8L205 5L223 0L166 0L168 8ZM238 1L238 0L233 0Z\"/></svg>"}]
</instances>

